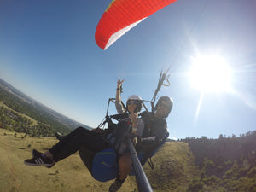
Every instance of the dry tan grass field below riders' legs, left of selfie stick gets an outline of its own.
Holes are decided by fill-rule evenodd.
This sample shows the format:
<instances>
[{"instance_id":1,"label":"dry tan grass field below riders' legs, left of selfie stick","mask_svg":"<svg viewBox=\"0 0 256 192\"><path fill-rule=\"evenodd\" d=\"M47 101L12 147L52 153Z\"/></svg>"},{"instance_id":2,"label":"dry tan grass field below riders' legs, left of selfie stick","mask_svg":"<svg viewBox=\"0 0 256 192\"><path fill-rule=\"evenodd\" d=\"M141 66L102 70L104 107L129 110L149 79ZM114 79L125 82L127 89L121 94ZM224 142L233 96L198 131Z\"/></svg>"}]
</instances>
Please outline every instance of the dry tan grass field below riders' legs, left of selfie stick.
<instances>
[{"instance_id":1,"label":"dry tan grass field below riders' legs, left of selfie stick","mask_svg":"<svg viewBox=\"0 0 256 192\"><path fill-rule=\"evenodd\" d=\"M25 134L0 129L0 191L3 192L82 192L108 191L113 181L98 182L90 176L79 154L73 154L51 169L43 166L26 166L31 149L44 151L56 143L52 137L22 137ZM136 189L134 177L128 177L120 192Z\"/></svg>"}]
</instances>

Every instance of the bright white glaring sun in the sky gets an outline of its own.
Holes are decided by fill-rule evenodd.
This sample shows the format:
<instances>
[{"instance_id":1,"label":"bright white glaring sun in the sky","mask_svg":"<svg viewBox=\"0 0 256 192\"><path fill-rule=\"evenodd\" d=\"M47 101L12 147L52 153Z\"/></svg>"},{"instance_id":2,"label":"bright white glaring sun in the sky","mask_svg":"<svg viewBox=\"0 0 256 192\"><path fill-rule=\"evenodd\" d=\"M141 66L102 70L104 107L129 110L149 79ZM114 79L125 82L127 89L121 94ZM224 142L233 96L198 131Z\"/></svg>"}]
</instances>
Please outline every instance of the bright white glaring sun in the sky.
<instances>
[{"instance_id":1,"label":"bright white glaring sun in the sky","mask_svg":"<svg viewBox=\"0 0 256 192\"><path fill-rule=\"evenodd\" d=\"M229 92L231 70L218 55L201 55L193 59L189 79L195 89L203 92Z\"/></svg>"}]
</instances>

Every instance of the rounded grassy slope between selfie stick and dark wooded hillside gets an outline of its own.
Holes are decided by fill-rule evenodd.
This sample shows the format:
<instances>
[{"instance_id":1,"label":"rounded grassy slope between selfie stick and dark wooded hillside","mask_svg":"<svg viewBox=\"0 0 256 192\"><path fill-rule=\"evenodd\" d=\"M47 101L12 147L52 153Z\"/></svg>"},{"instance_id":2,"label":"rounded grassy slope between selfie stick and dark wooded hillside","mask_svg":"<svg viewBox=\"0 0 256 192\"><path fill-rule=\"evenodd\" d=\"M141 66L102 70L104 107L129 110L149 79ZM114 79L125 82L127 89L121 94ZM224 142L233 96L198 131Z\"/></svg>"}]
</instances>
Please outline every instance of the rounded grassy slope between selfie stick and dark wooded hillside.
<instances>
[{"instance_id":1,"label":"rounded grassy slope between selfie stick and dark wooded hillside","mask_svg":"<svg viewBox=\"0 0 256 192\"><path fill-rule=\"evenodd\" d=\"M152 158L154 170L148 164L144 170L154 191L186 191L189 181L199 176L194 160L188 143L167 142Z\"/></svg>"}]
</instances>

